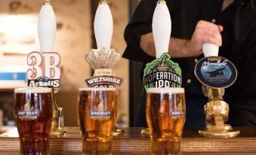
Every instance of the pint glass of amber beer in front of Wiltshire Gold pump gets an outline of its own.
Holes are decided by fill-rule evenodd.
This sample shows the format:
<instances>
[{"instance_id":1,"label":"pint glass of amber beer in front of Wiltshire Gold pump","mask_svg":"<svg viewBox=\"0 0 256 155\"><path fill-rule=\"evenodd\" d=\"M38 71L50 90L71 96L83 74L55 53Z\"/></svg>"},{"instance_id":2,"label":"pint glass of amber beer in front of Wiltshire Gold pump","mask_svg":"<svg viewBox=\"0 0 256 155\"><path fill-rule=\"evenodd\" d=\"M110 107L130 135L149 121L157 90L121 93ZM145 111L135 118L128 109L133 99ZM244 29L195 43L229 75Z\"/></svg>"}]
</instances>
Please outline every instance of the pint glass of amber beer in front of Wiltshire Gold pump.
<instances>
[{"instance_id":1,"label":"pint glass of amber beer in front of Wiltshire Gold pump","mask_svg":"<svg viewBox=\"0 0 256 155\"><path fill-rule=\"evenodd\" d=\"M79 126L83 154L111 154L116 121L116 88L79 89Z\"/></svg>"}]
</instances>

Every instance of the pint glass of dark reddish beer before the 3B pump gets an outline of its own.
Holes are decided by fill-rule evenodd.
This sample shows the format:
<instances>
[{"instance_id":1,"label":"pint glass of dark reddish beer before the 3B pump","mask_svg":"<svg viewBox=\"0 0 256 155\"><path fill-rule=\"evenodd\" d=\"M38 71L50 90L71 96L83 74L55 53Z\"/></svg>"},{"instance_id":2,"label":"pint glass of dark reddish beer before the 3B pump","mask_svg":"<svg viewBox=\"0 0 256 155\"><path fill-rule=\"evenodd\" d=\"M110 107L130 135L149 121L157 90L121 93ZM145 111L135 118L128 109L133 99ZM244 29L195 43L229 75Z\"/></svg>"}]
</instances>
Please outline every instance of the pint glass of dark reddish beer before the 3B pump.
<instances>
[{"instance_id":1,"label":"pint glass of dark reddish beer before the 3B pump","mask_svg":"<svg viewBox=\"0 0 256 155\"><path fill-rule=\"evenodd\" d=\"M14 118L20 135L20 153L50 154L53 97L44 87L24 87L14 90Z\"/></svg>"}]
</instances>

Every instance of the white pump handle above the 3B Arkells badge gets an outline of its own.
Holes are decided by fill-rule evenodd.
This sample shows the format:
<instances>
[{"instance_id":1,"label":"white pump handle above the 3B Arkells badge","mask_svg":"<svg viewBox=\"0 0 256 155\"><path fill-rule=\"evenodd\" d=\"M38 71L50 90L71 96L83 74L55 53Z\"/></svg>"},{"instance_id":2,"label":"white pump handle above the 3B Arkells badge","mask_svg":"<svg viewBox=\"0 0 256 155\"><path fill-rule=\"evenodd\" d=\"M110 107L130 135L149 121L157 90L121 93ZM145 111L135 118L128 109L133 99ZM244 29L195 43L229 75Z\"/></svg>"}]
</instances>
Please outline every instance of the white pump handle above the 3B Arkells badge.
<instances>
[{"instance_id":1,"label":"white pump handle above the 3B Arkells badge","mask_svg":"<svg viewBox=\"0 0 256 155\"><path fill-rule=\"evenodd\" d=\"M56 33L56 18L54 9L46 1L39 12L38 21L39 43L42 52L54 51L54 38Z\"/></svg>"}]
</instances>

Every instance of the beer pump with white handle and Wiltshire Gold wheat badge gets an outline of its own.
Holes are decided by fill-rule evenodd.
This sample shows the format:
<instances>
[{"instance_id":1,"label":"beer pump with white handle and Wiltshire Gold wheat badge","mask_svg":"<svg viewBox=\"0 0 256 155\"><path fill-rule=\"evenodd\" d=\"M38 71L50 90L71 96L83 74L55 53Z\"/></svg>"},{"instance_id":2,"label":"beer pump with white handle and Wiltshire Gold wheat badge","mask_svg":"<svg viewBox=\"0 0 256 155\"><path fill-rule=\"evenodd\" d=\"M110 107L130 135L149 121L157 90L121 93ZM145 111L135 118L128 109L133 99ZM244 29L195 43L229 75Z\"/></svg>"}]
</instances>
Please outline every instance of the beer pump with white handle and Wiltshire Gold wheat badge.
<instances>
[{"instance_id":1,"label":"beer pump with white handle and Wiltshire Gold wheat badge","mask_svg":"<svg viewBox=\"0 0 256 155\"><path fill-rule=\"evenodd\" d=\"M88 87L120 87L123 79L113 76L113 67L121 56L111 48L113 16L106 0L100 0L97 7L94 17L94 35L97 42L97 49L92 49L85 55L85 60L91 65L91 68L94 68L94 75L86 79L85 82ZM96 84L89 82L94 78L117 79L120 82L102 81ZM116 128L114 135L122 134L122 132L124 132L123 129Z\"/></svg>"}]
</instances>

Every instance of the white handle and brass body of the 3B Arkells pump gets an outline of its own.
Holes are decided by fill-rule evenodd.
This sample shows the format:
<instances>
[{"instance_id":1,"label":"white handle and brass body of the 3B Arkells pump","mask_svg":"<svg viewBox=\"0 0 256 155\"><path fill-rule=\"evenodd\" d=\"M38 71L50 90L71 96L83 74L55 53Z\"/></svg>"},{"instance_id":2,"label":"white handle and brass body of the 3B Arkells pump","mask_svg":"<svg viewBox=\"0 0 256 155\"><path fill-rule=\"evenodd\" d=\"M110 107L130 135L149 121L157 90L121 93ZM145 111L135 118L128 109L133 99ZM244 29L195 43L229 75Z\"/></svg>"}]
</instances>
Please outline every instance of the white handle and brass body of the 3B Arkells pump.
<instances>
[{"instance_id":1,"label":"white handle and brass body of the 3B Arkells pump","mask_svg":"<svg viewBox=\"0 0 256 155\"><path fill-rule=\"evenodd\" d=\"M39 12L38 21L38 34L41 53L50 53L54 51L54 39L56 33L56 18L54 9L52 8L51 1L45 0ZM59 89L52 89L53 97ZM63 108L59 108L54 98L53 105L53 121L51 123L51 134L56 135L65 133L66 129L63 128ZM62 121L61 121L62 120Z\"/></svg>"}]
</instances>

